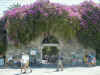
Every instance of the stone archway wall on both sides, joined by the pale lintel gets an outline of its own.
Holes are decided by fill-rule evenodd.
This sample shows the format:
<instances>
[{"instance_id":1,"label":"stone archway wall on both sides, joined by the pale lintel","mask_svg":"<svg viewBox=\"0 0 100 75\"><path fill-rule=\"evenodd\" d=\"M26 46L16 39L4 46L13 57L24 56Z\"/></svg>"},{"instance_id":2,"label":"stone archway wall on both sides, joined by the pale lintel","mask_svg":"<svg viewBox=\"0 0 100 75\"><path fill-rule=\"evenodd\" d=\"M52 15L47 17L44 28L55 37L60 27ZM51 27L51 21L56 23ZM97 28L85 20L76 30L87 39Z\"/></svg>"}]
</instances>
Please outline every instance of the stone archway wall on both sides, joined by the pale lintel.
<instances>
[{"instance_id":1,"label":"stone archway wall on both sides, joined by the pale lintel","mask_svg":"<svg viewBox=\"0 0 100 75\"><path fill-rule=\"evenodd\" d=\"M64 55L64 63L65 64L71 64L72 60L72 54L73 52L75 54L79 54L79 56L85 55L85 48L77 41L77 39L73 39L71 42L66 42L64 39L60 39L61 37L57 37L57 40L59 41L59 44L49 43L49 44L43 44L42 41L44 39L43 36L38 36L34 41L31 41L27 47L28 48L37 48L40 53L40 61L42 61L42 49L45 46L55 46L59 48L60 53L63 53ZM13 56L16 54L21 53L22 51L25 51L25 53L29 53L29 50L27 50L26 46L23 46L20 49L17 49L14 47L13 43L11 41L8 41L8 50L6 52L6 57ZM87 51L91 52L90 49L87 49ZM89 53L88 52L88 53Z\"/></svg>"}]
</instances>

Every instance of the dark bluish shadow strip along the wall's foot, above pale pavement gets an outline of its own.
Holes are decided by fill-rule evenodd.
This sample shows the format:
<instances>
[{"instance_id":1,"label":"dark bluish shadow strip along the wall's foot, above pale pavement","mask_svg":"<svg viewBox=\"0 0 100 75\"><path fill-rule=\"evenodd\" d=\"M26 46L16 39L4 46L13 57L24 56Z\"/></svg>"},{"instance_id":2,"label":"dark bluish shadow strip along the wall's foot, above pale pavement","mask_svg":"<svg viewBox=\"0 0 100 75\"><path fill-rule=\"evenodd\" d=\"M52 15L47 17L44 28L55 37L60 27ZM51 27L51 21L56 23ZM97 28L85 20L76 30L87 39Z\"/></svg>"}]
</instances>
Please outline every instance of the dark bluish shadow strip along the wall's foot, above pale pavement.
<instances>
[{"instance_id":1,"label":"dark bluish shadow strip along the wall's foot, above pale pavement","mask_svg":"<svg viewBox=\"0 0 100 75\"><path fill-rule=\"evenodd\" d=\"M96 65L96 66L100 66L100 65ZM95 67L95 66L91 66L91 65L69 65L66 64L64 65L64 68L76 68L76 67ZM38 69L38 68L57 68L56 64L41 64L41 65L33 65L31 67L32 69ZM0 69L20 69L20 67L16 67L16 66L0 66Z\"/></svg>"}]
</instances>

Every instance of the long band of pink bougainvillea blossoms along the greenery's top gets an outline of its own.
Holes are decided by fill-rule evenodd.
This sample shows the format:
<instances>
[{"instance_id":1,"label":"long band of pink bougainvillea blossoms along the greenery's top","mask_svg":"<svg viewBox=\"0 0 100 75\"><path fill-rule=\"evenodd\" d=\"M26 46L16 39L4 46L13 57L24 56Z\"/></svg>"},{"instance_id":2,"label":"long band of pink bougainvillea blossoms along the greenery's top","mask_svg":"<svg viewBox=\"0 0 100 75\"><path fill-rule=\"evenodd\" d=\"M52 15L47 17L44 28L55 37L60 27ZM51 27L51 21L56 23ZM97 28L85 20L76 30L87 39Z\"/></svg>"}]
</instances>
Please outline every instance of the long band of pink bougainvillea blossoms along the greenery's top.
<instances>
[{"instance_id":1,"label":"long band of pink bougainvillea blossoms along the greenery's top","mask_svg":"<svg viewBox=\"0 0 100 75\"><path fill-rule=\"evenodd\" d=\"M81 23L80 25L86 25L88 24L89 20L91 20L92 24L97 24L98 20L100 19L100 10L95 11L93 7L98 7L98 5L94 2L83 2L80 5L72 5L72 6L66 6L66 5L61 5L57 3L49 3L50 7L53 7L53 9L48 9L44 7L44 5L40 2L35 2L31 5L24 5L19 8L14 8L13 10L8 10L5 14L6 16L9 17L16 17L18 16L17 14L23 14L24 16L27 14L32 14L35 15L37 14L37 11L40 12L41 15L44 15L45 17L49 16L50 14L63 14L63 10L69 13L70 17L77 17L80 19ZM83 19L82 16L86 16L87 19ZM88 26L88 25L86 25Z\"/></svg>"}]
</instances>

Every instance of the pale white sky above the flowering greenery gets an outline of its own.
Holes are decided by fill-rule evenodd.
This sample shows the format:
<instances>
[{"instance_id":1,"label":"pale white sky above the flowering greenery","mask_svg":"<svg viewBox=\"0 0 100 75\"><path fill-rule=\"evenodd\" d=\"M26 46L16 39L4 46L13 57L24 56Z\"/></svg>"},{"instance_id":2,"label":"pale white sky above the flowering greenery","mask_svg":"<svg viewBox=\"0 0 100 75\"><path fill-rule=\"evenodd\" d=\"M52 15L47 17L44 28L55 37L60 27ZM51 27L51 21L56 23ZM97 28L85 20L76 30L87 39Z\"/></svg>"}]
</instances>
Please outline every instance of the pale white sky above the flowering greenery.
<instances>
[{"instance_id":1,"label":"pale white sky above the flowering greenery","mask_svg":"<svg viewBox=\"0 0 100 75\"><path fill-rule=\"evenodd\" d=\"M32 4L35 1L36 0L0 0L0 17L4 15L4 11L6 11L8 7L10 7L11 5L17 3L21 5L27 5L27 4ZM64 5L76 5L86 0L49 0L49 1L53 3L64 4ZM95 1L96 3L100 3L100 0L93 0L93 1Z\"/></svg>"}]
</instances>

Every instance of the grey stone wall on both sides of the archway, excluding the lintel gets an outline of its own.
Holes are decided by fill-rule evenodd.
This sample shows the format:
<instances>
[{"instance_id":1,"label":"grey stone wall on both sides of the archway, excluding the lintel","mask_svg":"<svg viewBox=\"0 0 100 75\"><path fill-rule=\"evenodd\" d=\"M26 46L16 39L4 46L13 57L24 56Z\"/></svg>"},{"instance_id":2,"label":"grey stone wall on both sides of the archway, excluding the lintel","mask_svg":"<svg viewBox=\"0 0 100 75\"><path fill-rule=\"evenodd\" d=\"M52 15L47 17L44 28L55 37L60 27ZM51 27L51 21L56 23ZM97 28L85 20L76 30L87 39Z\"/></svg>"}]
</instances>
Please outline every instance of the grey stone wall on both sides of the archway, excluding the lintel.
<instances>
[{"instance_id":1,"label":"grey stone wall on both sides of the archway, excluding the lintel","mask_svg":"<svg viewBox=\"0 0 100 75\"><path fill-rule=\"evenodd\" d=\"M16 54L21 54L22 52L29 54L31 48L38 48L38 50L41 54L42 40L43 40L42 38L37 38L37 40L32 41L27 46L22 46L19 49L14 47L13 44L9 41L8 50L6 52L6 57L8 58L8 57L14 56ZM59 44L60 44L59 51L64 56L65 64L71 64L73 54L78 57L83 57L86 53L91 53L91 52L93 52L95 54L95 51L93 49L91 49L91 48L85 49L81 44L78 43L78 41L76 39L73 39L70 42L65 42L65 43L60 41Z\"/></svg>"}]
</instances>

